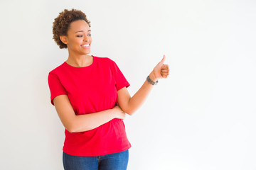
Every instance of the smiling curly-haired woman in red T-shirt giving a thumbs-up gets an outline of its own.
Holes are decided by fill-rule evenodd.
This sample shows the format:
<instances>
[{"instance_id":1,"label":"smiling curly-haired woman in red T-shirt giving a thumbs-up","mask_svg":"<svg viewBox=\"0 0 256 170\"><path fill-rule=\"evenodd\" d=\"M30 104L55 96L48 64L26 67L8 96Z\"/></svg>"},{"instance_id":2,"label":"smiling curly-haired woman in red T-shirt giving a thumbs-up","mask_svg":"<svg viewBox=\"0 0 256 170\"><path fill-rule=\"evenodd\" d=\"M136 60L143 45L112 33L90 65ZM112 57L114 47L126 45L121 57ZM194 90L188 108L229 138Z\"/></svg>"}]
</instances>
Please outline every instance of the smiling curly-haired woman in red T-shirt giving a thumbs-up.
<instances>
[{"instance_id":1,"label":"smiling curly-haired woman in red T-shirt giving a thumbs-up","mask_svg":"<svg viewBox=\"0 0 256 170\"><path fill-rule=\"evenodd\" d=\"M142 105L156 81L169 75L164 59L134 96L117 64L90 54L90 21L65 9L53 22L53 39L68 60L48 75L50 100L65 127L64 169L127 169L131 147L123 119ZM118 96L118 97L117 97Z\"/></svg>"}]
</instances>

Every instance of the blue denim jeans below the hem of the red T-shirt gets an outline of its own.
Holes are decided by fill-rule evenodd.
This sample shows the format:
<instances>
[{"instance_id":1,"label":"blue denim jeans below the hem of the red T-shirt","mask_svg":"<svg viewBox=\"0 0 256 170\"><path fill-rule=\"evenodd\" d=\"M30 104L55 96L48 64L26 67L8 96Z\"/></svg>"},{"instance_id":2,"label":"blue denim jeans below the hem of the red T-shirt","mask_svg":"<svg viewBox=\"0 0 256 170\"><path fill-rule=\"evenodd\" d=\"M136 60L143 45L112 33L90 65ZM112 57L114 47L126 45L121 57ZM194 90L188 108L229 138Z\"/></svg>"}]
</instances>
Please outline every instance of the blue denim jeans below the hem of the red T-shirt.
<instances>
[{"instance_id":1,"label":"blue denim jeans below the hem of the red T-shirt","mask_svg":"<svg viewBox=\"0 0 256 170\"><path fill-rule=\"evenodd\" d=\"M78 157L63 152L65 170L126 170L129 150L99 157Z\"/></svg>"}]
</instances>

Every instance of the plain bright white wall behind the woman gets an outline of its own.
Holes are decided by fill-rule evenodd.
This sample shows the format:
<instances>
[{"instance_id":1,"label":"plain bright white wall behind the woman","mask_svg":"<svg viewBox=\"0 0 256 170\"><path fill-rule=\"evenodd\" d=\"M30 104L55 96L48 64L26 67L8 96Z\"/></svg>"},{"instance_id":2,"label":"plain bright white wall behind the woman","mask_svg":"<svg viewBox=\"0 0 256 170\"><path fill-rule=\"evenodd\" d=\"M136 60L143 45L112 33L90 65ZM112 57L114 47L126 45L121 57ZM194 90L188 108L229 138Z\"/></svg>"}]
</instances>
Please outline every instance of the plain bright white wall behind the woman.
<instances>
[{"instance_id":1,"label":"plain bright white wall behind the woman","mask_svg":"<svg viewBox=\"0 0 256 170\"><path fill-rule=\"evenodd\" d=\"M91 55L142 85L165 54L171 68L124 120L129 170L256 169L256 1L0 1L0 169L63 169L64 128L48 72L67 50L52 40L64 8L92 25Z\"/></svg>"}]
</instances>

